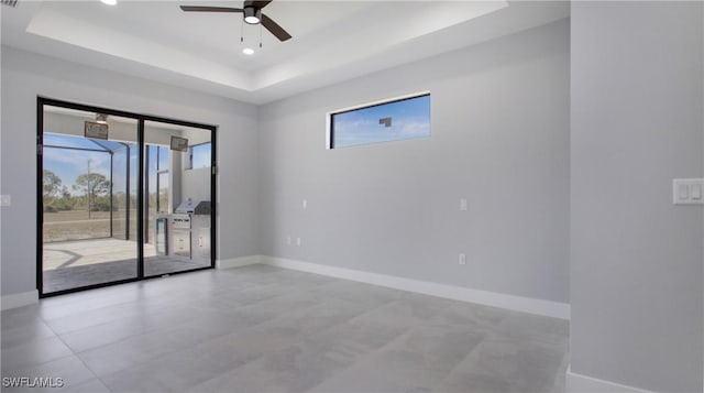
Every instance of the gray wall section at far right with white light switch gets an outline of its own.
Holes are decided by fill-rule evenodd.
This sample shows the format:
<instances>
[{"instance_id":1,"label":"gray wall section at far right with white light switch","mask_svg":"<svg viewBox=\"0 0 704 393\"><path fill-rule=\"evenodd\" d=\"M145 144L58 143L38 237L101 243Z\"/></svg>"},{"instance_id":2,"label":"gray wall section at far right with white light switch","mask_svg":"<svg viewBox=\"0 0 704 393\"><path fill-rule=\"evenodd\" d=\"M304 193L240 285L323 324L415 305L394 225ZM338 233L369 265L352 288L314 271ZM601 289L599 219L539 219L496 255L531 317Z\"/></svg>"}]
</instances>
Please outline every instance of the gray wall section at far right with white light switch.
<instances>
[{"instance_id":1,"label":"gray wall section at far right with white light switch","mask_svg":"<svg viewBox=\"0 0 704 393\"><path fill-rule=\"evenodd\" d=\"M702 391L701 2L572 7L571 368Z\"/></svg>"}]
</instances>

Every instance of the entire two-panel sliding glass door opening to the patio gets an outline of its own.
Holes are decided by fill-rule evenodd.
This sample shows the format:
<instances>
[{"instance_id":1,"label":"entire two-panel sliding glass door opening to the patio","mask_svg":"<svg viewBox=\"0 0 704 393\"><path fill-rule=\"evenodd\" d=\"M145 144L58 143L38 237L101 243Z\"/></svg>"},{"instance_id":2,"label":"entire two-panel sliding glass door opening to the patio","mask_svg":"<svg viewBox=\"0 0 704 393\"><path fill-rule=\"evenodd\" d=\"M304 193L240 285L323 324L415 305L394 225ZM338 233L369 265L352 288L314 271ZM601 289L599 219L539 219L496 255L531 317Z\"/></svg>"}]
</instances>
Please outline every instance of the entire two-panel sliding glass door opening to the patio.
<instances>
[{"instance_id":1,"label":"entire two-panel sliding glass door opening to the patio","mask_svg":"<svg viewBox=\"0 0 704 393\"><path fill-rule=\"evenodd\" d=\"M215 127L40 98L42 296L215 266Z\"/></svg>"}]
</instances>

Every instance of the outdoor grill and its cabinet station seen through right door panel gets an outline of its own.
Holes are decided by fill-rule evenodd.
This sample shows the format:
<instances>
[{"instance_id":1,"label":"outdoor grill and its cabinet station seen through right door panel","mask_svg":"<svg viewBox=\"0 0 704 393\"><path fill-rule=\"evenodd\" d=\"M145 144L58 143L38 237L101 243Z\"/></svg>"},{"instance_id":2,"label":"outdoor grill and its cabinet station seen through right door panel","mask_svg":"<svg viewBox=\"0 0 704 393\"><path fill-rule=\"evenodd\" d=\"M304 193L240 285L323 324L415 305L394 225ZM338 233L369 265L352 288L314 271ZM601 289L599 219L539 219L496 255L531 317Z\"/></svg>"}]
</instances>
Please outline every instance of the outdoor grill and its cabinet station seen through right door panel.
<instances>
[{"instance_id":1,"label":"outdoor grill and its cabinet station seen through right door panel","mask_svg":"<svg viewBox=\"0 0 704 393\"><path fill-rule=\"evenodd\" d=\"M160 225L160 220L165 223ZM160 228L168 228L160 236ZM210 261L210 201L188 199L173 215L157 218L156 239L160 253L191 260Z\"/></svg>"}]
</instances>

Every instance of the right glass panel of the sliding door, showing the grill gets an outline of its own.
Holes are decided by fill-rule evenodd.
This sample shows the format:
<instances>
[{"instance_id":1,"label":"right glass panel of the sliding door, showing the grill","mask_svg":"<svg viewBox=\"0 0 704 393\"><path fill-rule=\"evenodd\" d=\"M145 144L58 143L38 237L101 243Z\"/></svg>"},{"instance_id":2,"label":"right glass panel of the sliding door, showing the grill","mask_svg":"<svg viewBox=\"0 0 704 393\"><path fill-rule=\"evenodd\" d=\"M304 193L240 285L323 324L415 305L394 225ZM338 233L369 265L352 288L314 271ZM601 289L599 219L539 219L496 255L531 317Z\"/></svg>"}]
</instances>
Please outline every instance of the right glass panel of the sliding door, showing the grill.
<instances>
[{"instance_id":1,"label":"right glass panel of the sliding door, showing the grill","mask_svg":"<svg viewBox=\"0 0 704 393\"><path fill-rule=\"evenodd\" d=\"M212 131L144 123L144 275L212 265Z\"/></svg>"}]
</instances>

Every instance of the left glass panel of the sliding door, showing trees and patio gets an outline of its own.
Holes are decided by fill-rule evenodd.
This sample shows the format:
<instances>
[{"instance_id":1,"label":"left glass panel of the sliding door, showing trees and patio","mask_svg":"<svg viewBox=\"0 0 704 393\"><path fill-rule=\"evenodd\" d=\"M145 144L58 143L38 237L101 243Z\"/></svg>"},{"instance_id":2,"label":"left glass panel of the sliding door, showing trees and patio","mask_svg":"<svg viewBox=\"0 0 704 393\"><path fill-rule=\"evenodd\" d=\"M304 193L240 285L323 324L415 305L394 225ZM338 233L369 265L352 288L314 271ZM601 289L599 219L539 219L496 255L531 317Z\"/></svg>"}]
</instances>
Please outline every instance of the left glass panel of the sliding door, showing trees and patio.
<instances>
[{"instance_id":1,"label":"left glass panel of the sliding door, showing trees and patio","mask_svg":"<svg viewBox=\"0 0 704 393\"><path fill-rule=\"evenodd\" d=\"M138 121L46 105L42 127L42 294L134 280Z\"/></svg>"}]
</instances>

